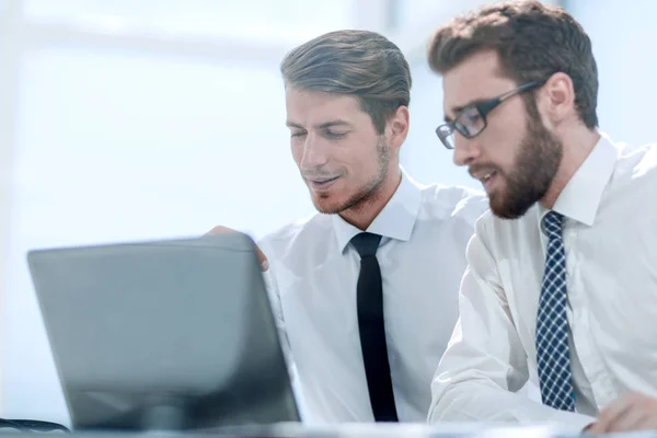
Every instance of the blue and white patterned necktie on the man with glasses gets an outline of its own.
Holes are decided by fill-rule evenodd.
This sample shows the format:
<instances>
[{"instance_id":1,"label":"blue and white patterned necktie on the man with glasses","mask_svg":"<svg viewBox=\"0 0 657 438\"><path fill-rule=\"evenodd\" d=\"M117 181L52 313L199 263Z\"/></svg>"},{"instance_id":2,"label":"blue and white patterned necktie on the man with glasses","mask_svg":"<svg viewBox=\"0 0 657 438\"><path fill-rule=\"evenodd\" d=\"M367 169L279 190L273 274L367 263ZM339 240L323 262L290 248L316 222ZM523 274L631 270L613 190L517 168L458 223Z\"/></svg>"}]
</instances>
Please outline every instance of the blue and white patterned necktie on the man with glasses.
<instances>
[{"instance_id":1,"label":"blue and white patterned necktie on the man with glasses","mask_svg":"<svg viewBox=\"0 0 657 438\"><path fill-rule=\"evenodd\" d=\"M543 232L549 241L537 318L537 361L543 404L557 410L575 411L566 316L563 219L556 211L550 211L543 217Z\"/></svg>"}]
</instances>

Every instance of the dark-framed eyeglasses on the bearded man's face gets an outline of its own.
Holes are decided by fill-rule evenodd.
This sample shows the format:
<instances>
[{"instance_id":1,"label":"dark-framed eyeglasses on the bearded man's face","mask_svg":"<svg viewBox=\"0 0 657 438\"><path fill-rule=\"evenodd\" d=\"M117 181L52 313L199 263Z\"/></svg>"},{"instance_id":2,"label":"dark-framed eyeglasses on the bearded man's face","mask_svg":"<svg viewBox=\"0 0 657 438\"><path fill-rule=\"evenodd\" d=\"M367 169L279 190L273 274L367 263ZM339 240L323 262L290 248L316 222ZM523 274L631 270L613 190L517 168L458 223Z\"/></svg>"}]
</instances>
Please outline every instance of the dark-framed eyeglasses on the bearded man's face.
<instances>
[{"instance_id":1,"label":"dark-framed eyeglasses on the bearded man's face","mask_svg":"<svg viewBox=\"0 0 657 438\"><path fill-rule=\"evenodd\" d=\"M516 90L507 91L497 97L491 99L489 101L465 106L452 122L448 122L437 127L436 134L447 149L454 149L454 131L458 131L465 138L474 138L479 136L487 126L486 115L489 112L495 110L507 99L512 97L516 94L539 88L546 81L548 78L540 81L528 82L518 87Z\"/></svg>"}]
</instances>

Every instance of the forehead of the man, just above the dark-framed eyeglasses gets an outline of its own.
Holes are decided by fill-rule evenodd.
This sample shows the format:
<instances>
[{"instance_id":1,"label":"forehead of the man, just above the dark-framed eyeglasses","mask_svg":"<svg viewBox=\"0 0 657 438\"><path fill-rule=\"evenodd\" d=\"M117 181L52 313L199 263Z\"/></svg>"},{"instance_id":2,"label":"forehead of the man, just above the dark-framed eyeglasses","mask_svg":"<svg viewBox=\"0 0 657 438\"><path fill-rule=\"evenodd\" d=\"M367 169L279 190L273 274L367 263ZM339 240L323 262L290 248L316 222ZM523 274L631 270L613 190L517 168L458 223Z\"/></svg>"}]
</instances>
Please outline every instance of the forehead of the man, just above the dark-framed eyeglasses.
<instances>
[{"instance_id":1,"label":"forehead of the man, just above the dark-framed eyeglasses","mask_svg":"<svg viewBox=\"0 0 657 438\"><path fill-rule=\"evenodd\" d=\"M454 108L495 97L515 87L515 82L503 74L495 51L471 55L442 76L445 115L453 117Z\"/></svg>"}]
</instances>

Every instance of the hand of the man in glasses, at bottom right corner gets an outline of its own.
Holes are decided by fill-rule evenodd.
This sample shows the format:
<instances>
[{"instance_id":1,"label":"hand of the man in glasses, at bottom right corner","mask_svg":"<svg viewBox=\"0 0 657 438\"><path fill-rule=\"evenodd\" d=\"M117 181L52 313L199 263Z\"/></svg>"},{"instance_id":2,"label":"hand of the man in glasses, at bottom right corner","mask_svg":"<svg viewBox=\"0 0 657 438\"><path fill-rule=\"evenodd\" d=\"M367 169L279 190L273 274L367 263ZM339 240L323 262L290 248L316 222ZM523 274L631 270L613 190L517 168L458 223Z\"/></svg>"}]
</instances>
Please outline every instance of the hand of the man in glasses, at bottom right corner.
<instances>
[{"instance_id":1,"label":"hand of the man in glasses, at bottom right corner","mask_svg":"<svg viewBox=\"0 0 657 438\"><path fill-rule=\"evenodd\" d=\"M657 429L657 399L633 392L604 407L596 423L587 427L589 434L613 434L631 430Z\"/></svg>"}]
</instances>

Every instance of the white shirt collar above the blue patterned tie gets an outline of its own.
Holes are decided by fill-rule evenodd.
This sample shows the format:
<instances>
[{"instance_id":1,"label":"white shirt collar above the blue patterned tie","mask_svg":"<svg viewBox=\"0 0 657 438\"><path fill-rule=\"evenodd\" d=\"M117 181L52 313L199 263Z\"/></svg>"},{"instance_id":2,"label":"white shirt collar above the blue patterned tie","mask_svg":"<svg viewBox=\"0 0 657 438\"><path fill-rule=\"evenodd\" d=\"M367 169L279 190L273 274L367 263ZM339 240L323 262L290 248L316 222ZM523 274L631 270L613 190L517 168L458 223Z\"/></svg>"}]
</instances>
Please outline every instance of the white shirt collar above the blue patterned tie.
<instances>
[{"instance_id":1,"label":"white shirt collar above the blue patterned tie","mask_svg":"<svg viewBox=\"0 0 657 438\"><path fill-rule=\"evenodd\" d=\"M613 145L607 134L600 132L600 139L558 195L552 209L591 227L619 153L619 147ZM541 223L548 210L540 206L539 211Z\"/></svg>"}]
</instances>

